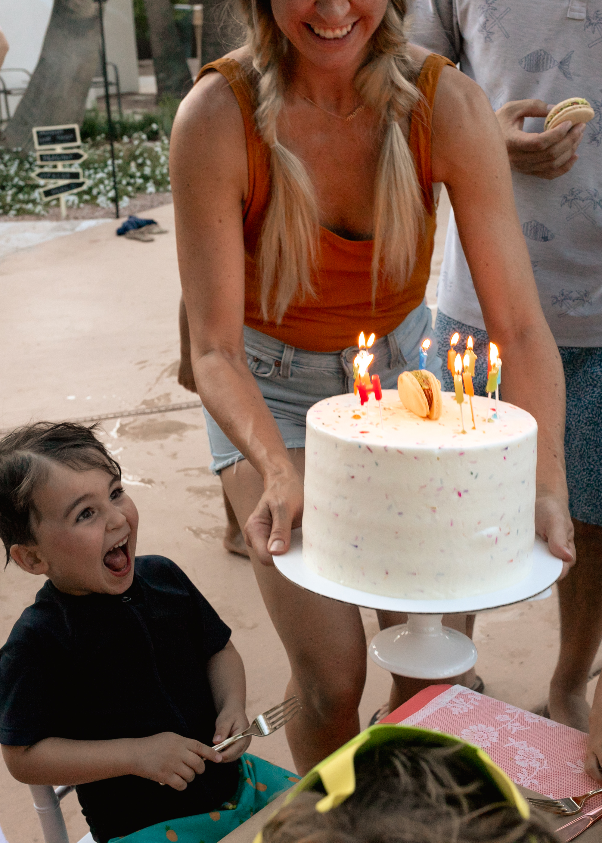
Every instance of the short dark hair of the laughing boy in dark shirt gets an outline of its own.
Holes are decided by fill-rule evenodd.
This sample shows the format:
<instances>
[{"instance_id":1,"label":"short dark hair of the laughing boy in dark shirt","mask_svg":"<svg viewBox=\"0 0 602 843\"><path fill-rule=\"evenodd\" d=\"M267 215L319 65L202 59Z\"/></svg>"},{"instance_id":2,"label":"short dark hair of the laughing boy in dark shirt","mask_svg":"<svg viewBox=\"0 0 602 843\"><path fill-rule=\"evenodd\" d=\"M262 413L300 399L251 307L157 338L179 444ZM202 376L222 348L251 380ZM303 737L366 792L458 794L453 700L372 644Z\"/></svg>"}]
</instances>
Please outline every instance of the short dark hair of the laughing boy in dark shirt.
<instances>
[{"instance_id":1,"label":"short dark hair of the laughing boy in dark shirt","mask_svg":"<svg viewBox=\"0 0 602 843\"><path fill-rule=\"evenodd\" d=\"M34 491L46 481L49 462L71 469L100 469L121 480L121 467L94 436L98 425L38 421L0 440L0 538L10 561L11 545L35 542L31 515Z\"/></svg>"}]
</instances>

